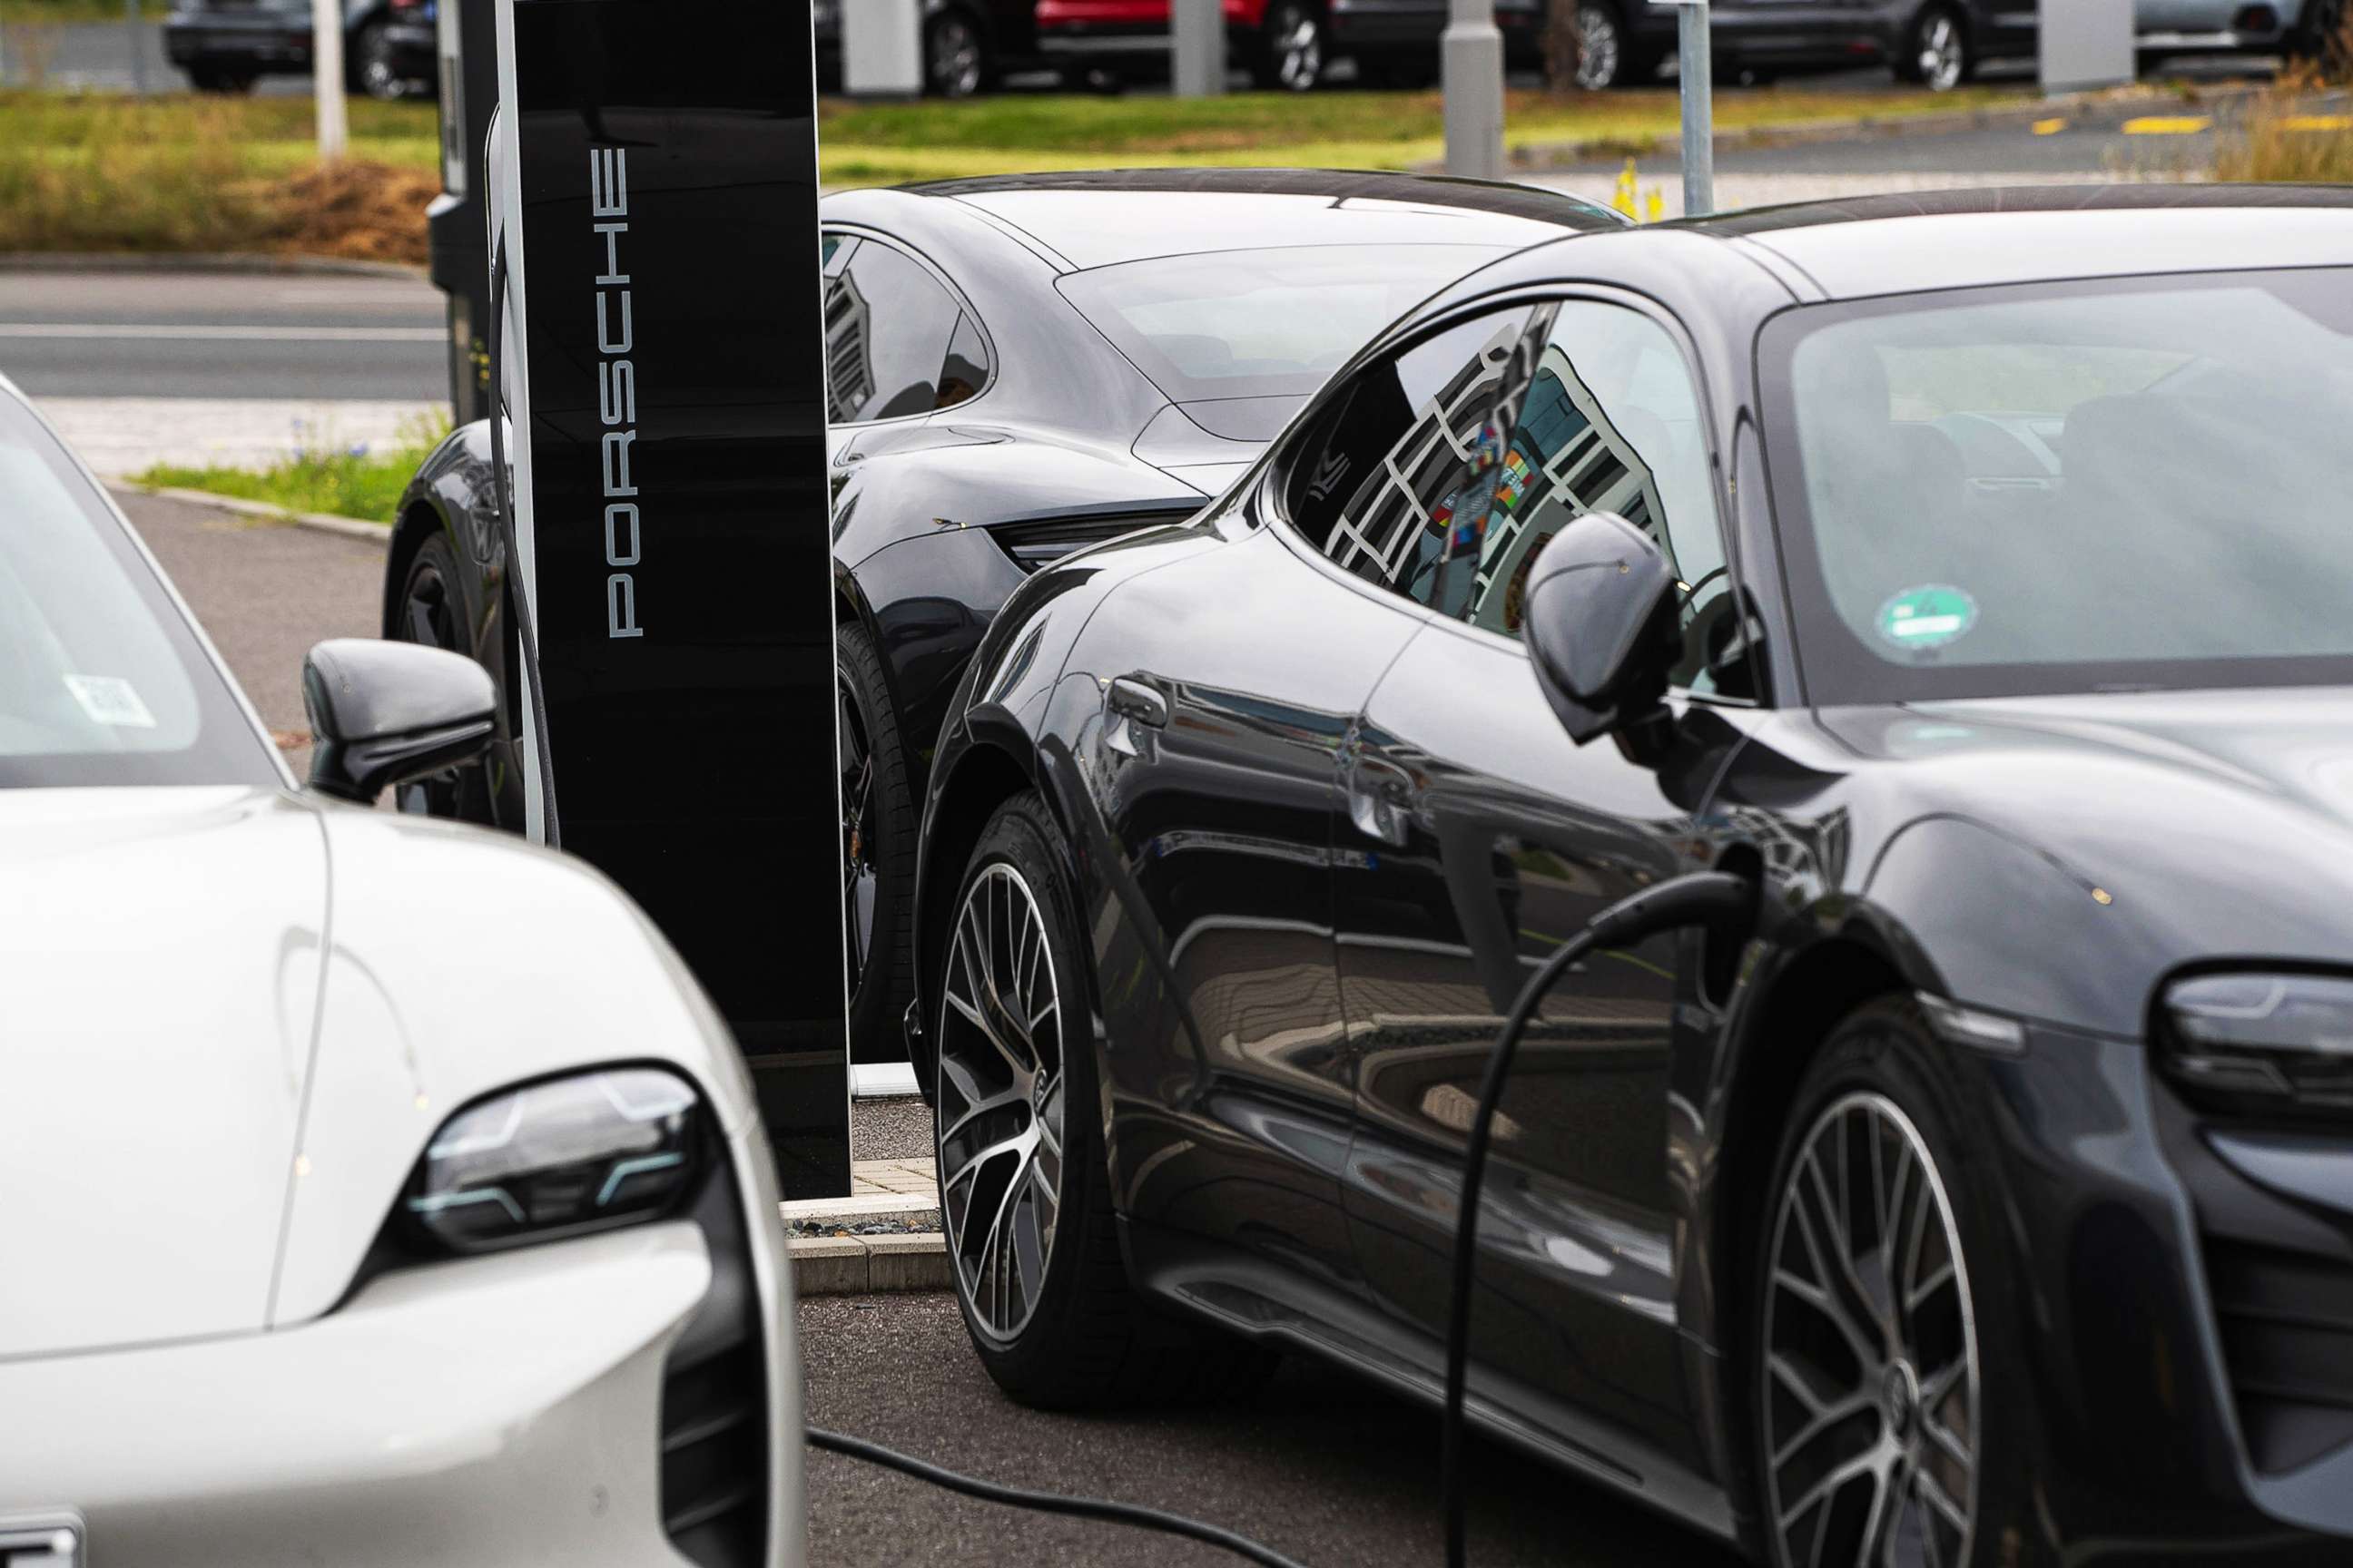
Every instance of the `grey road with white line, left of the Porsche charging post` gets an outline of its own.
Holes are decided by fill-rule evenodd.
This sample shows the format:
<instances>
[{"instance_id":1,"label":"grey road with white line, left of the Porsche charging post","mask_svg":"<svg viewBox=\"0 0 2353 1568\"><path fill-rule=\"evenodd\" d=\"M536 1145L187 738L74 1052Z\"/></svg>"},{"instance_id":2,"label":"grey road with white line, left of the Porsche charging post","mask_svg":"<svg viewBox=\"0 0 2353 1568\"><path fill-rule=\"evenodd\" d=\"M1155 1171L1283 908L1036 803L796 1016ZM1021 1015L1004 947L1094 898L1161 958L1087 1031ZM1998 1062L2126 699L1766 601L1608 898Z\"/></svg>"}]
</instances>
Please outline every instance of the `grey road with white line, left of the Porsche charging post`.
<instances>
[{"instance_id":1,"label":"grey road with white line, left of the Porsche charging post","mask_svg":"<svg viewBox=\"0 0 2353 1568\"><path fill-rule=\"evenodd\" d=\"M0 273L0 371L33 397L449 395L421 277Z\"/></svg>"}]
</instances>

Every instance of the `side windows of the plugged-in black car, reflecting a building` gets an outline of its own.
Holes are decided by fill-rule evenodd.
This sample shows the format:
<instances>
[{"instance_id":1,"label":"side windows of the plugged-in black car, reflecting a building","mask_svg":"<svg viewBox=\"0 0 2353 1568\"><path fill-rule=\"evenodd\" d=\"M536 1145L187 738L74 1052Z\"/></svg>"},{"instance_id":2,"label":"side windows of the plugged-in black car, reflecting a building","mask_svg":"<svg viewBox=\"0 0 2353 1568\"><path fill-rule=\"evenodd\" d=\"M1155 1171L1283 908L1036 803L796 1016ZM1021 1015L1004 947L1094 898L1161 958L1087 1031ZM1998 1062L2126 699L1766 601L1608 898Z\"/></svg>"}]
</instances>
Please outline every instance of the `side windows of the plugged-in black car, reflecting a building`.
<instances>
[{"instance_id":1,"label":"side windows of the plugged-in black car, reflecting a building","mask_svg":"<svg viewBox=\"0 0 2353 1568\"><path fill-rule=\"evenodd\" d=\"M1334 562L1506 637L1544 545L1586 512L1626 517L1682 583L1675 682L1748 696L1711 668L1732 595L1708 444L1682 353L1647 315L1567 301L1475 317L1365 371L1299 451L1289 515Z\"/></svg>"}]
</instances>

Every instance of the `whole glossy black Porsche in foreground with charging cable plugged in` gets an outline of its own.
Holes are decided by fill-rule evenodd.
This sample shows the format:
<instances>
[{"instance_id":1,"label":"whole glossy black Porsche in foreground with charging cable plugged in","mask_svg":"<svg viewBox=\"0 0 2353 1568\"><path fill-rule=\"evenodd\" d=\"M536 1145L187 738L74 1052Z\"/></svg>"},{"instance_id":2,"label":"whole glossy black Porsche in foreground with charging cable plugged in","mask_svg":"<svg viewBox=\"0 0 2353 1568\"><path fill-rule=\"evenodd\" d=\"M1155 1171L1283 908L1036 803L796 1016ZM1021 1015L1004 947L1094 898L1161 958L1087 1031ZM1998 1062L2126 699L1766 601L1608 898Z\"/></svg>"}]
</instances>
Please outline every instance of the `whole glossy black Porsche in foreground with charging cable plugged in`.
<instances>
[{"instance_id":1,"label":"whole glossy black Porsche in foreground with charging cable plugged in","mask_svg":"<svg viewBox=\"0 0 2353 1568\"><path fill-rule=\"evenodd\" d=\"M925 802L988 1371L1273 1349L1779 1566L2353 1559L2353 195L1546 244L1031 576ZM1169 1328L1176 1324L1179 1328Z\"/></svg>"}]
</instances>

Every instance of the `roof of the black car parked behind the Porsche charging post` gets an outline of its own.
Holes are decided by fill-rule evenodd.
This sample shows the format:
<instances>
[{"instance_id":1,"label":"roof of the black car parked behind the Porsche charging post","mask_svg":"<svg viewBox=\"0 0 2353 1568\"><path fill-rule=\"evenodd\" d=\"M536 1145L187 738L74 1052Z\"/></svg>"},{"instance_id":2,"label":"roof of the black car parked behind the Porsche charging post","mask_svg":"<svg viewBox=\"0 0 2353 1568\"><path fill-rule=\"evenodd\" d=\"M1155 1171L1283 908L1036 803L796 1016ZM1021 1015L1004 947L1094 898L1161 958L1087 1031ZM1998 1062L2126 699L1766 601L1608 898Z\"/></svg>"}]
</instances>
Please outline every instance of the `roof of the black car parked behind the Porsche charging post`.
<instances>
[{"instance_id":1,"label":"roof of the black car parked behind the Porsche charging post","mask_svg":"<svg viewBox=\"0 0 2353 1568\"><path fill-rule=\"evenodd\" d=\"M1626 219L1574 195L1348 169L1082 169L901 186L958 200L1094 268L1280 244L1494 244L1518 249Z\"/></svg>"}]
</instances>

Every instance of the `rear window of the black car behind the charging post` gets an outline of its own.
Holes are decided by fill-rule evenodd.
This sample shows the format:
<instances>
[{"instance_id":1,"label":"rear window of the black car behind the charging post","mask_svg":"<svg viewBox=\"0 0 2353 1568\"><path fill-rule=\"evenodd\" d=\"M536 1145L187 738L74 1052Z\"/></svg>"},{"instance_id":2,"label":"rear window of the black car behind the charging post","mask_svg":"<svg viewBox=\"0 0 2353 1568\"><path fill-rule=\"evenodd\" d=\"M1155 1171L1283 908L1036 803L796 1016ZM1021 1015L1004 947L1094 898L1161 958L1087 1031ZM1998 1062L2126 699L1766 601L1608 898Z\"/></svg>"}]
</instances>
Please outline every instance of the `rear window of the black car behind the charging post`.
<instances>
[{"instance_id":1,"label":"rear window of the black car behind the charging post","mask_svg":"<svg viewBox=\"0 0 2353 1568\"><path fill-rule=\"evenodd\" d=\"M1172 402L1306 397L1492 244L1297 244L1122 261L1064 296Z\"/></svg>"}]
</instances>

